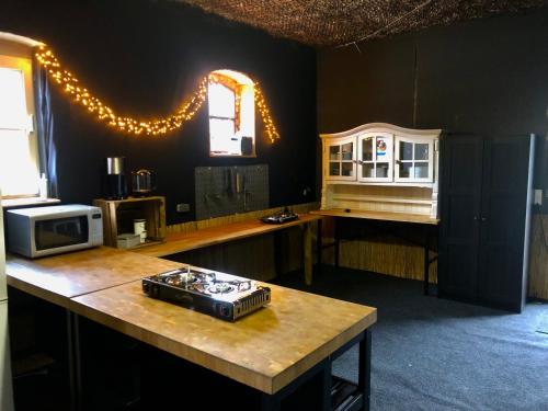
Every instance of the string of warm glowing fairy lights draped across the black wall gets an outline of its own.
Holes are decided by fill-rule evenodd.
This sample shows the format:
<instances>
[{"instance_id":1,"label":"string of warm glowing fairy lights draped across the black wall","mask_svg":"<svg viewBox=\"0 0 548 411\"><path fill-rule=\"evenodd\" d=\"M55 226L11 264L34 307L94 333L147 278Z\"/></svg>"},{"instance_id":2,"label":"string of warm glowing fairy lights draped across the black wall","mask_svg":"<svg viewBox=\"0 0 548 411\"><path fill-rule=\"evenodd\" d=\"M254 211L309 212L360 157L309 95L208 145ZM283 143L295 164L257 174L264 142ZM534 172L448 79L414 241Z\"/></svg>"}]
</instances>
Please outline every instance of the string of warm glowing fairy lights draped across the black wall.
<instances>
[{"instance_id":1,"label":"string of warm glowing fairy lights draped across the black wall","mask_svg":"<svg viewBox=\"0 0 548 411\"><path fill-rule=\"evenodd\" d=\"M196 112L204 104L207 98L207 85L209 83L224 83L222 76L209 73L199 81L197 90L195 90L174 113L163 118L140 119L116 114L113 109L101 101L101 99L93 95L93 93L84 88L70 71L65 69L55 57L53 50L46 45L38 46L36 59L48 72L53 81L64 90L76 104L81 105L90 115L107 126L135 136L141 134L160 136L181 128L184 123L190 122L194 117ZM265 135L271 142L275 142L279 139L279 134L272 119L266 100L256 82L254 82L253 88L255 104L263 119Z\"/></svg>"}]
</instances>

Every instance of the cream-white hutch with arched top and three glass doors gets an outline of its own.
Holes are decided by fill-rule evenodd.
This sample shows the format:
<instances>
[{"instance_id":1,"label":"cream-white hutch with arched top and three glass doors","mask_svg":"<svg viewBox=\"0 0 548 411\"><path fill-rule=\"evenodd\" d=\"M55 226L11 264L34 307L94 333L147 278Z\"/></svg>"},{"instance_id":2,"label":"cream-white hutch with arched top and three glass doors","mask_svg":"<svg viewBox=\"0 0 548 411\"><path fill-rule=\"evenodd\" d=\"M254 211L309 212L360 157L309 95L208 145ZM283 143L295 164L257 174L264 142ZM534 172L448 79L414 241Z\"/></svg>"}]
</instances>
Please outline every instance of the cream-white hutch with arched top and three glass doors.
<instances>
[{"instance_id":1,"label":"cream-white hutch with arched top and three glass doors","mask_svg":"<svg viewBox=\"0 0 548 411\"><path fill-rule=\"evenodd\" d=\"M369 123L322 134L322 209L437 218L441 129Z\"/></svg>"}]
</instances>

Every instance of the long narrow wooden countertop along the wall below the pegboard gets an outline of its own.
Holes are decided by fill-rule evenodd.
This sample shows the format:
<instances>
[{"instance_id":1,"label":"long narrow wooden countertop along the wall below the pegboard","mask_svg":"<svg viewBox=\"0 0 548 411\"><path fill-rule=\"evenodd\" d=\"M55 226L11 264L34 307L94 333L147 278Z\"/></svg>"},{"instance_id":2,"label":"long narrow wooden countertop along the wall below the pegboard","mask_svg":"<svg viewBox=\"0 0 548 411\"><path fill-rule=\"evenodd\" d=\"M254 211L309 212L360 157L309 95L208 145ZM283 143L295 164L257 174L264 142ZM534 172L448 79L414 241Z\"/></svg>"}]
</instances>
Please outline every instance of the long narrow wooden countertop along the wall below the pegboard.
<instances>
[{"instance_id":1,"label":"long narrow wooden countertop along the wall below the pegboard","mask_svg":"<svg viewBox=\"0 0 548 411\"><path fill-rule=\"evenodd\" d=\"M284 224L265 224L259 219L249 219L219 227L204 228L190 233L168 236L165 242L161 244L142 247L130 251L150 256L165 256L203 247L220 244L227 241L264 235L288 227L300 226L321 218L321 215L300 214L298 220Z\"/></svg>"}]
</instances>

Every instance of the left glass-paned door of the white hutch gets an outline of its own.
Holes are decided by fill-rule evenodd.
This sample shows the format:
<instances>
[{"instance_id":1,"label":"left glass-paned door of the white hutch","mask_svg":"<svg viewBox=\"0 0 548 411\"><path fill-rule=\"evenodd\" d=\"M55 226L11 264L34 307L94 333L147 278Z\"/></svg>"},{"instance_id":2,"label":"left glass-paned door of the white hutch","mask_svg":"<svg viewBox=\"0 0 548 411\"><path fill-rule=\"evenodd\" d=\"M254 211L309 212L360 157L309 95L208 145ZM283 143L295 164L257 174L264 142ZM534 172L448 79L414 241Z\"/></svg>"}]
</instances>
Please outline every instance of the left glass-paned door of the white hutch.
<instances>
[{"instance_id":1,"label":"left glass-paned door of the white hutch","mask_svg":"<svg viewBox=\"0 0 548 411\"><path fill-rule=\"evenodd\" d=\"M355 137L327 142L329 180L356 180Z\"/></svg>"}]
</instances>

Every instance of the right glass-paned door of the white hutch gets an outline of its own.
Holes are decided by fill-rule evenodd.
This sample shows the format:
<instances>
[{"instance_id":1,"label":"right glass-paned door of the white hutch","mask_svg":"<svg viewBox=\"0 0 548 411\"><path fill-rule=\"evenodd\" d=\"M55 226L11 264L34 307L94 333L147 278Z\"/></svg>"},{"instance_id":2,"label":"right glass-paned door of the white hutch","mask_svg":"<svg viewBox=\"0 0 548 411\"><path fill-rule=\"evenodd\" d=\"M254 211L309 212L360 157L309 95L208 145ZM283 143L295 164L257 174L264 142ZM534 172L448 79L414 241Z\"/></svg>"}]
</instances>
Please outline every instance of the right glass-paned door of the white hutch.
<instances>
[{"instance_id":1,"label":"right glass-paned door of the white hutch","mask_svg":"<svg viewBox=\"0 0 548 411\"><path fill-rule=\"evenodd\" d=\"M397 182L432 182L434 180L434 140L396 136Z\"/></svg>"}]
</instances>

